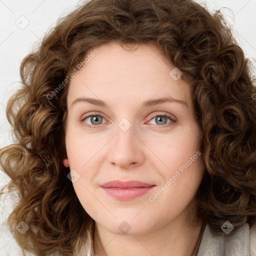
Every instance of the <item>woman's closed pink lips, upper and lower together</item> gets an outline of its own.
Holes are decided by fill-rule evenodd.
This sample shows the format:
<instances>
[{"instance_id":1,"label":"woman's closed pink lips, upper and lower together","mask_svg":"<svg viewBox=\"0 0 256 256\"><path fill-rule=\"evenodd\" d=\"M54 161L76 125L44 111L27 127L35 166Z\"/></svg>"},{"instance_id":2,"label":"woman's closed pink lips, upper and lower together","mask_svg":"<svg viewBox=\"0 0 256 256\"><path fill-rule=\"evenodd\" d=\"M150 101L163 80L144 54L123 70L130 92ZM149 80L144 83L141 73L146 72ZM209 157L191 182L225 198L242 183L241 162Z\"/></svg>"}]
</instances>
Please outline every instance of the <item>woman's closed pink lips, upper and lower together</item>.
<instances>
[{"instance_id":1,"label":"woman's closed pink lips, upper and lower together","mask_svg":"<svg viewBox=\"0 0 256 256\"><path fill-rule=\"evenodd\" d=\"M108 195L118 200L135 199L149 192L154 186L139 180L112 180L101 185Z\"/></svg>"}]
</instances>

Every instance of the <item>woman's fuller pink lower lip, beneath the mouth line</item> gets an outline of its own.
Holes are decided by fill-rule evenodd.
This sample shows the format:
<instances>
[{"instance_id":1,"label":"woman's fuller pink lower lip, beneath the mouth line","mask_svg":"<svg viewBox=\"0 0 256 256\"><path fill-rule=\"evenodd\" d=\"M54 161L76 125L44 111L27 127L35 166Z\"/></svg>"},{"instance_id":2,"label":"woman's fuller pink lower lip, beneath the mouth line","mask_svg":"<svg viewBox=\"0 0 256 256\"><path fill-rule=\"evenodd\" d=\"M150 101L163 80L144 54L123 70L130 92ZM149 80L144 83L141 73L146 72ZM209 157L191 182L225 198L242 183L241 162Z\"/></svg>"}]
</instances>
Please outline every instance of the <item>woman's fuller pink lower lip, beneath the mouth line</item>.
<instances>
[{"instance_id":1,"label":"woman's fuller pink lower lip, beneath the mouth line","mask_svg":"<svg viewBox=\"0 0 256 256\"><path fill-rule=\"evenodd\" d=\"M107 194L118 200L130 200L135 199L149 190L154 186L148 187L133 187L133 188L113 188L113 187L102 187Z\"/></svg>"}]
</instances>

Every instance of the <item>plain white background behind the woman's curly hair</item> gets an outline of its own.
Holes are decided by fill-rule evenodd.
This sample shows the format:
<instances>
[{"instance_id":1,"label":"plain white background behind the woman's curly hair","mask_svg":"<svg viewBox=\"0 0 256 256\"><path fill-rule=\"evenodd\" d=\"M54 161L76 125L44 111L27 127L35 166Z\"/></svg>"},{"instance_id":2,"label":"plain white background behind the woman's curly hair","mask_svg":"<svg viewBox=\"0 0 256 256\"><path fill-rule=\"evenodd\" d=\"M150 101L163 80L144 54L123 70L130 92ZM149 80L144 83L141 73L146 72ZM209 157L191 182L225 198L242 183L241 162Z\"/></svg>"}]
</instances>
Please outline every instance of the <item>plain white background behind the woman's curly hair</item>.
<instances>
[{"instance_id":1,"label":"plain white background behind the woman's curly hair","mask_svg":"<svg viewBox=\"0 0 256 256\"><path fill-rule=\"evenodd\" d=\"M256 0L196 0L210 10L223 8L238 44L256 70ZM11 143L10 126L5 117L7 98L19 86L19 65L25 55L54 26L57 18L69 13L83 0L0 0L0 148ZM24 16L24 17L20 17ZM29 22L21 29L16 23ZM27 20L27 21L26 21ZM0 171L0 187L9 179ZM11 212L9 199L0 198L0 221ZM2 225L1 225L2 226ZM0 256L21 255L20 249L3 227L0 229Z\"/></svg>"}]
</instances>

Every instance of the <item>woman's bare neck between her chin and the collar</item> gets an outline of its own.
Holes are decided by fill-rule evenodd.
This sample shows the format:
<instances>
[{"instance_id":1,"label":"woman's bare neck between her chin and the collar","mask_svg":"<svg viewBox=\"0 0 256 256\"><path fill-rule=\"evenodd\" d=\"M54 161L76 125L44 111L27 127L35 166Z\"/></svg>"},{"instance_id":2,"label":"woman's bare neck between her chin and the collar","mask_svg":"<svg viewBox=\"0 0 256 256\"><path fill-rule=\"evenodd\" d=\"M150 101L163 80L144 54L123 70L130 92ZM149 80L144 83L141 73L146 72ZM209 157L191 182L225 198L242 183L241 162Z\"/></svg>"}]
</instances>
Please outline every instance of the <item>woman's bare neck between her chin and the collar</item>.
<instances>
[{"instance_id":1,"label":"woman's bare neck between her chin and the collar","mask_svg":"<svg viewBox=\"0 0 256 256\"><path fill-rule=\"evenodd\" d=\"M143 235L119 235L95 223L93 245L98 256L196 255L203 221L187 225L185 218L171 221Z\"/></svg>"}]
</instances>

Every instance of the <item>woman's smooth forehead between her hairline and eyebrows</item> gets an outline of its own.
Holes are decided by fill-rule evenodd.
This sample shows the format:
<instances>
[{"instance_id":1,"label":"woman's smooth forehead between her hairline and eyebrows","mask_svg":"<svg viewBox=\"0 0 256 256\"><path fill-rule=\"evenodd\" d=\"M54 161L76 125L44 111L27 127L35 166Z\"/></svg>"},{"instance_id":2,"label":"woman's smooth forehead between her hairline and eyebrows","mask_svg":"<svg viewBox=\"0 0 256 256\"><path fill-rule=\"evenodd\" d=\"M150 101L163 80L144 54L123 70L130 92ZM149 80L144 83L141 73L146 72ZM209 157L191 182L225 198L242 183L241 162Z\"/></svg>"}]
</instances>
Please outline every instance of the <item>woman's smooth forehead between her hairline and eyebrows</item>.
<instances>
[{"instance_id":1,"label":"woman's smooth forehead between her hairline and eyebrows","mask_svg":"<svg viewBox=\"0 0 256 256\"><path fill-rule=\"evenodd\" d=\"M133 50L117 42L96 47L89 62L71 79L68 104L81 95L120 100L175 96L189 101L189 86L170 75L175 66L154 44L141 44ZM89 55L95 48L91 48ZM172 72L173 73L173 72ZM120 101L123 102L123 101Z\"/></svg>"}]
</instances>

